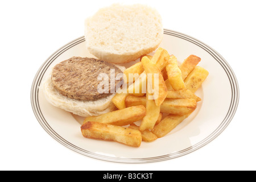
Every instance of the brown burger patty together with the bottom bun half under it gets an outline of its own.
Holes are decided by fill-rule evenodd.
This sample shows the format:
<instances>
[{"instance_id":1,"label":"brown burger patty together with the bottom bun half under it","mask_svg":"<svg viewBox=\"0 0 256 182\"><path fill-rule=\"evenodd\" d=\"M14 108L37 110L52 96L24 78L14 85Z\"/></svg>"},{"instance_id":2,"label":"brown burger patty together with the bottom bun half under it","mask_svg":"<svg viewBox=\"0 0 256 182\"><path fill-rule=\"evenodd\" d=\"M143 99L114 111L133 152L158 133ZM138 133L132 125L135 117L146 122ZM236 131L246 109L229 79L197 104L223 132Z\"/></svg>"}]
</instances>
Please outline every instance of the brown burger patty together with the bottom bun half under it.
<instances>
[{"instance_id":1,"label":"brown burger patty together with the bottom bun half under it","mask_svg":"<svg viewBox=\"0 0 256 182\"><path fill-rule=\"evenodd\" d=\"M106 93L97 91L97 84L101 82L97 80L98 75L105 73L109 77L110 69L117 75L123 73L124 67L88 57L71 57L56 64L43 81L44 96L53 106L81 117L116 110L112 102L115 93L109 94L109 87L104 88Z\"/></svg>"}]
</instances>

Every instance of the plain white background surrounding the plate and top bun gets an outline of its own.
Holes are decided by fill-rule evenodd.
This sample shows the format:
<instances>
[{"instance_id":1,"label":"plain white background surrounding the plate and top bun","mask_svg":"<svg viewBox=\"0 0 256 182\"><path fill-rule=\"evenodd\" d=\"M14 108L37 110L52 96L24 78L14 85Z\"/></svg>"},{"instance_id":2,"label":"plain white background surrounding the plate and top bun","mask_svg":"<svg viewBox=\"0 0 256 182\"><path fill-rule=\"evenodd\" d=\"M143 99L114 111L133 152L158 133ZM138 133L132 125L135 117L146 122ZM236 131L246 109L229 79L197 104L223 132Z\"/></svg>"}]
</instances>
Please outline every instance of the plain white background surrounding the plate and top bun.
<instances>
[{"instance_id":1,"label":"plain white background surrounding the plate and top bun","mask_svg":"<svg viewBox=\"0 0 256 182\"><path fill-rule=\"evenodd\" d=\"M164 28L208 44L236 73L240 86L237 113L224 132L206 146L165 162L120 164L77 154L43 130L30 103L36 72L53 52L84 34L86 17L113 2L126 1L0 2L0 169L255 170L254 1L129 1L155 7Z\"/></svg>"}]
</instances>

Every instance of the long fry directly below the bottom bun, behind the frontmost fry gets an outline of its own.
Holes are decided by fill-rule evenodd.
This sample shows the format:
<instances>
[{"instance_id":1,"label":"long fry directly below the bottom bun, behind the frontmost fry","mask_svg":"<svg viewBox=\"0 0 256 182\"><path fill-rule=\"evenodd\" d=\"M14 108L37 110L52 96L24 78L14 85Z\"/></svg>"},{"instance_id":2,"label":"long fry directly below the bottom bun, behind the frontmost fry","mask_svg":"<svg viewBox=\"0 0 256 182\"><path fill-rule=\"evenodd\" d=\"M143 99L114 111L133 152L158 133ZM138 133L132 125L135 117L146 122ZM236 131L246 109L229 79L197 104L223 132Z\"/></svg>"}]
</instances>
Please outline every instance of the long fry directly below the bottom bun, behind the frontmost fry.
<instances>
[{"instance_id":1,"label":"long fry directly below the bottom bun, behind the frontmost fry","mask_svg":"<svg viewBox=\"0 0 256 182\"><path fill-rule=\"evenodd\" d=\"M143 119L146 115L146 108L143 105L126 107L125 109L115 110L109 113L86 117L84 123L97 121L117 126L130 125L130 123Z\"/></svg>"}]
</instances>

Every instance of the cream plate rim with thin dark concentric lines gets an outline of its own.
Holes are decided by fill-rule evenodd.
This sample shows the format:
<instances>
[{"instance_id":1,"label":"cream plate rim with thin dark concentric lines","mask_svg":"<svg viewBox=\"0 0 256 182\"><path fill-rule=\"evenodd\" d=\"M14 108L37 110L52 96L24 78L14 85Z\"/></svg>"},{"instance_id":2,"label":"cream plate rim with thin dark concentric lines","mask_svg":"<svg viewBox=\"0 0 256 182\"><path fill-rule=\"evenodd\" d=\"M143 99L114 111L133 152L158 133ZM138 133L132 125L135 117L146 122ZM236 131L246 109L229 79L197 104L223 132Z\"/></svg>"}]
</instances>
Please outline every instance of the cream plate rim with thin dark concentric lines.
<instances>
[{"instance_id":1,"label":"cream plate rim with thin dark concentric lines","mask_svg":"<svg viewBox=\"0 0 256 182\"><path fill-rule=\"evenodd\" d=\"M236 78L235 73L233 72L233 69L230 67L228 62L218 53L215 51L212 47L208 46L207 44L201 42L198 39L193 38L192 36L183 34L181 32L177 32L174 30L169 30L164 28L164 34L171 35L171 36L176 36L177 38L181 38L184 40L187 40L196 46L199 46L203 48L205 51L207 51L213 58L221 65L221 67L224 69L226 72L229 82L230 82L230 87L232 90L232 98L230 102L230 107L228 110L228 113L226 114L226 117L223 119L221 124L210 134L208 137L204 138L200 142L185 148L181 151L174 152L172 154L166 154L166 155L160 155L160 156L154 156L150 158L118 158L118 157L112 157L112 156L105 156L105 155L100 155L100 154L95 154L94 152L87 151L83 148L77 147L74 144L68 142L64 138L62 138L59 134L57 134L51 126L48 125L46 119L44 118L42 111L40 110L39 102L38 102L38 93L39 93L39 85L42 82L42 78L44 76L44 73L47 71L49 65L58 57L60 56L63 52L67 51L67 49L72 48L76 46L77 44L80 44L82 42L85 42L84 36L80 36L77 39L72 40L71 42L65 44L64 46L60 47L52 53L51 56L48 57L46 61L40 66L38 71L36 72L36 75L34 77L34 80L32 82L31 86L31 93L30 93L30 98L31 98L31 106L32 110L35 114L36 119L40 123L40 125L43 127L43 129L51 135L51 137L57 142L63 144L65 147L79 153L85 156L88 156L90 158L94 159L100 159L100 160L105 160L108 162L117 162L117 163L152 163L152 162L160 162L163 160L170 160L174 158L178 158L180 156L187 155L193 151L198 150L199 148L207 145L210 143L213 139L217 138L218 135L222 133L226 129L226 127L229 125L229 123L232 121L234 114L236 113L238 103L239 103L239 98L240 98L240 90L238 86L238 81Z\"/></svg>"}]
</instances>

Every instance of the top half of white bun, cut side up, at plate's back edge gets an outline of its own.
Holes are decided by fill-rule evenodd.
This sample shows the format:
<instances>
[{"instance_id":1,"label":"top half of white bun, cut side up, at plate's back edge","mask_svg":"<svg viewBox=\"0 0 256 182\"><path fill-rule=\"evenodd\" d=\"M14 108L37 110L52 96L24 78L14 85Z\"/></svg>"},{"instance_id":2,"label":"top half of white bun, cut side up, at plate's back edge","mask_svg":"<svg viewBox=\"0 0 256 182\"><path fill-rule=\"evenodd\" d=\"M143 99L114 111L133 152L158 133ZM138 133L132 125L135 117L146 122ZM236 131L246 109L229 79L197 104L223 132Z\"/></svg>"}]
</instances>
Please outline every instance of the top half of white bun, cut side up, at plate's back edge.
<instances>
[{"instance_id":1,"label":"top half of white bun, cut side up, at plate's back edge","mask_svg":"<svg viewBox=\"0 0 256 182\"><path fill-rule=\"evenodd\" d=\"M85 20L86 47L109 63L137 60L158 48L162 39L162 18L147 5L114 4Z\"/></svg>"}]
</instances>

